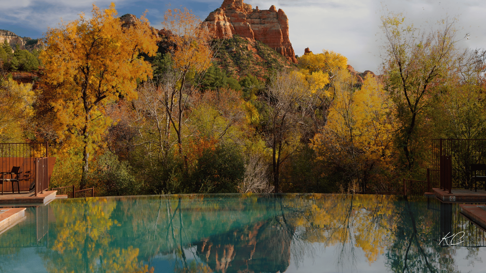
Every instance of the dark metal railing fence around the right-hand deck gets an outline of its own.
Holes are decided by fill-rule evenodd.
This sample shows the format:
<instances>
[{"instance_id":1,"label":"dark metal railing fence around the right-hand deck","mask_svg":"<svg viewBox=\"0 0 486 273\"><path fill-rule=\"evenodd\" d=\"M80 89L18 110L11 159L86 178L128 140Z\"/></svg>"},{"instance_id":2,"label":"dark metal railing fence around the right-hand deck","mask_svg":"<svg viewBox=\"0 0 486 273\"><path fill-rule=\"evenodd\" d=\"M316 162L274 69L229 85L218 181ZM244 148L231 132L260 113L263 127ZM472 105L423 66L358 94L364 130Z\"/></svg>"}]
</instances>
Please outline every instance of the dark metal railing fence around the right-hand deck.
<instances>
[{"instance_id":1,"label":"dark metal railing fence around the right-hand deck","mask_svg":"<svg viewBox=\"0 0 486 273\"><path fill-rule=\"evenodd\" d=\"M442 169L440 168L441 163ZM486 139L439 138L432 140L433 169L445 171L442 173L442 181L441 175L431 176L431 183L434 186L439 185L444 189L470 189L472 187L471 176L474 175L471 172L471 164L484 163L486 163ZM486 175L486 171L478 171L477 175Z\"/></svg>"}]
</instances>

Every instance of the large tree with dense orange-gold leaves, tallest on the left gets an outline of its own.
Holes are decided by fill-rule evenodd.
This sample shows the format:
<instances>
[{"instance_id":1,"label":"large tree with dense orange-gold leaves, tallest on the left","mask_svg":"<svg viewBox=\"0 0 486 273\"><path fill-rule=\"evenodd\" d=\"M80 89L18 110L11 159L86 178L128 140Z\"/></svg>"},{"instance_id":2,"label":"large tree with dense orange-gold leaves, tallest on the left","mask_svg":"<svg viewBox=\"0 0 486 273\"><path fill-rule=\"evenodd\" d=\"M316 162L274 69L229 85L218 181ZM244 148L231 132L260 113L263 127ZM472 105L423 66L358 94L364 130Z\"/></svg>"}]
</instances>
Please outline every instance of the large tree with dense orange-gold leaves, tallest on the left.
<instances>
[{"instance_id":1,"label":"large tree with dense orange-gold leaves, tallest on the left","mask_svg":"<svg viewBox=\"0 0 486 273\"><path fill-rule=\"evenodd\" d=\"M48 29L43 42L43 95L51 98L60 139L70 147L83 147L84 188L90 154L111 122L104 106L121 97L137 97L137 82L152 76L151 65L140 53L156 53L156 36L144 15L122 27L111 3L104 10L93 5L92 18L81 14Z\"/></svg>"}]
</instances>

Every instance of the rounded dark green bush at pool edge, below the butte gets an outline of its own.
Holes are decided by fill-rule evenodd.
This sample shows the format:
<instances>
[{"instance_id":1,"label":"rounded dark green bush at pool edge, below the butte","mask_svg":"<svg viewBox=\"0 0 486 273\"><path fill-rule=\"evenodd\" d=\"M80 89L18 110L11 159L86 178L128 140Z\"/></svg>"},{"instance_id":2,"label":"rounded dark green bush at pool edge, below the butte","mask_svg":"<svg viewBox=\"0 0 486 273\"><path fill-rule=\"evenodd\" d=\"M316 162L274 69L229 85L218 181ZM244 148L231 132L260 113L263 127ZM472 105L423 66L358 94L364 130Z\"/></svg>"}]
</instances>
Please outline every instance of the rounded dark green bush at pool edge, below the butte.
<instances>
[{"instance_id":1,"label":"rounded dark green bush at pool edge, below the butte","mask_svg":"<svg viewBox=\"0 0 486 273\"><path fill-rule=\"evenodd\" d=\"M237 192L238 182L243 180L243 157L234 146L219 146L207 150L198 159L196 170L189 182L188 192L220 193Z\"/></svg>"}]
</instances>

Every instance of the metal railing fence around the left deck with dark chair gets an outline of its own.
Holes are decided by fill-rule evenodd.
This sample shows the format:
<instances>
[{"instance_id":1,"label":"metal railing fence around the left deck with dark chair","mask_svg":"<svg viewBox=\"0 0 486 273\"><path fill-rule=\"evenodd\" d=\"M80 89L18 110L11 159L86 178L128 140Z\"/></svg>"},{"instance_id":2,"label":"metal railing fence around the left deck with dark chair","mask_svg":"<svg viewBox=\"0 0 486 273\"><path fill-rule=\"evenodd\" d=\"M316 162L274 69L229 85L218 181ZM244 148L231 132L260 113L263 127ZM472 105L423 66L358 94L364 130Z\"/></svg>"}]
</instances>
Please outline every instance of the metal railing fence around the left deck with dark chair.
<instances>
[{"instance_id":1,"label":"metal railing fence around the left deck with dark chair","mask_svg":"<svg viewBox=\"0 0 486 273\"><path fill-rule=\"evenodd\" d=\"M29 191L31 184L35 182L35 196L49 188L54 162L55 158L48 157L47 142L0 143L1 172L9 172L13 167L20 167L18 175L14 175L16 177L6 174L8 177L5 178L19 179L18 187L22 191ZM12 190L11 183L4 182L3 187L4 191Z\"/></svg>"}]
</instances>

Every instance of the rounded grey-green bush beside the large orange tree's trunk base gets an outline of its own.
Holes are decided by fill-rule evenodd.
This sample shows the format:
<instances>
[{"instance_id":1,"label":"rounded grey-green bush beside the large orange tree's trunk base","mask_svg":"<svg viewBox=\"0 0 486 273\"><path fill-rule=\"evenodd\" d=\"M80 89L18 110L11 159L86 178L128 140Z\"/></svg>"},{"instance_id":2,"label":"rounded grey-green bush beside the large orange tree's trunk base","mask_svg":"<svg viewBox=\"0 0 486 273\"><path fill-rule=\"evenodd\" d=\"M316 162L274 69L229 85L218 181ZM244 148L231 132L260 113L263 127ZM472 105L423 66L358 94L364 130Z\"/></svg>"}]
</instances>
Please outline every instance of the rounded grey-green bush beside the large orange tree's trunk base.
<instances>
[{"instance_id":1,"label":"rounded grey-green bush beside the large orange tree's trunk base","mask_svg":"<svg viewBox=\"0 0 486 273\"><path fill-rule=\"evenodd\" d=\"M97 187L100 196L140 194L142 181L136 179L132 168L118 156L106 152L93 163L90 180Z\"/></svg>"}]
</instances>

